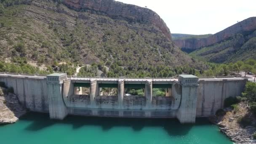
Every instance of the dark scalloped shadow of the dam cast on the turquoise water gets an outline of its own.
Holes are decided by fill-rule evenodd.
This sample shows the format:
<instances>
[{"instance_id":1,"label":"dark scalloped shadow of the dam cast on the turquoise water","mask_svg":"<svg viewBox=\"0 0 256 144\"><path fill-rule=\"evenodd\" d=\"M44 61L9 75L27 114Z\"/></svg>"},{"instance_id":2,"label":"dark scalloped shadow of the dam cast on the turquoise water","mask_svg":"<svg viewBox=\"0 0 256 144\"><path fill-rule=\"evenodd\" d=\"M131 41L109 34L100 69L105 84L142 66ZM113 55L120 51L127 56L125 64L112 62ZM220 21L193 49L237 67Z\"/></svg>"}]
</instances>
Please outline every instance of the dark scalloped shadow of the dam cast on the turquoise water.
<instances>
[{"instance_id":1,"label":"dark scalloped shadow of the dam cast on the turquoise water","mask_svg":"<svg viewBox=\"0 0 256 144\"><path fill-rule=\"evenodd\" d=\"M24 115L20 120L31 121L25 130L40 131L44 128L51 127L55 124L72 125L73 129L78 129L86 126L100 126L102 131L109 131L113 127L132 128L133 131L141 131L144 127L163 128L169 136L186 135L195 125L209 124L208 120L200 118L195 124L180 124L176 119L159 118L118 118L118 117L83 117L83 116L68 116L64 120L50 120L48 114L30 112Z\"/></svg>"}]
</instances>

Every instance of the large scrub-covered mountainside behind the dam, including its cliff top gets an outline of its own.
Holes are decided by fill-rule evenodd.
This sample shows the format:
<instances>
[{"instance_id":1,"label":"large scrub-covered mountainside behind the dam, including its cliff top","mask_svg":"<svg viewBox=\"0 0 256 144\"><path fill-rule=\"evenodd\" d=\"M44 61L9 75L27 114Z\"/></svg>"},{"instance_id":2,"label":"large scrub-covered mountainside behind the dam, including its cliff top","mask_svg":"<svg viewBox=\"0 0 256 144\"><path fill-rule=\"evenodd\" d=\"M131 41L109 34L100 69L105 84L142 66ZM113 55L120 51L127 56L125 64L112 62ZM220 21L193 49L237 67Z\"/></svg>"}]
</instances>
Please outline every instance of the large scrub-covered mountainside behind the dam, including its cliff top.
<instances>
[{"instance_id":1,"label":"large scrub-covered mountainside behind the dam, including its cliff top","mask_svg":"<svg viewBox=\"0 0 256 144\"><path fill-rule=\"evenodd\" d=\"M200 67L199 62L173 44L163 20L147 8L112 0L65 0L64 4L52 0L21 2L26 5L6 7L3 3L1 59L24 56L44 63L120 61L125 66L189 64Z\"/></svg>"}]
</instances>

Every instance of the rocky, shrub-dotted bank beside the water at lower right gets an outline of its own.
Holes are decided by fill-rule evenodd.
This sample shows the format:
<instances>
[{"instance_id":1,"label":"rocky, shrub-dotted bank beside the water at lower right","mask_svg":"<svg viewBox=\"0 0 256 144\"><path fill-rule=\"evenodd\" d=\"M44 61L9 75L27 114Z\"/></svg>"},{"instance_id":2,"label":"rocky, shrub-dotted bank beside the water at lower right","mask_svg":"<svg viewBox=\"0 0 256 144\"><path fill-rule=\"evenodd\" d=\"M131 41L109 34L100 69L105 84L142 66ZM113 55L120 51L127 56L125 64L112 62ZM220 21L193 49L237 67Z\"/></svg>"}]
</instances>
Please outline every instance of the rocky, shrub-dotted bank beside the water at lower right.
<instances>
[{"instance_id":1,"label":"rocky, shrub-dotted bank beside the water at lower right","mask_svg":"<svg viewBox=\"0 0 256 144\"><path fill-rule=\"evenodd\" d=\"M223 109L213 121L219 126L220 131L236 144L256 144L256 140L253 139L256 119L245 102L238 104L236 110Z\"/></svg>"}]
</instances>

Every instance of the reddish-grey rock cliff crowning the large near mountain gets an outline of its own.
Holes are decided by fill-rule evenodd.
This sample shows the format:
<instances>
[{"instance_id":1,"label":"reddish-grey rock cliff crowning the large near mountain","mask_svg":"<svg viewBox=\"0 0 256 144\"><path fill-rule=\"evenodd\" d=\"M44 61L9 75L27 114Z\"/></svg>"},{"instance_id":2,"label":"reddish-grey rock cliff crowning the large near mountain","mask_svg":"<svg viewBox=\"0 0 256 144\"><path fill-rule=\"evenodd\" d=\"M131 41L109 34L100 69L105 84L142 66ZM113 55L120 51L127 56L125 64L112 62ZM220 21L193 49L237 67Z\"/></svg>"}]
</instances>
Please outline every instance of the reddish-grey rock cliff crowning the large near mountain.
<instances>
[{"instance_id":1,"label":"reddish-grey rock cliff crowning the large near mountain","mask_svg":"<svg viewBox=\"0 0 256 144\"><path fill-rule=\"evenodd\" d=\"M112 18L153 24L163 32L163 35L171 40L171 32L163 19L148 8L124 4L115 0L64 0L64 4L77 10L89 9L99 11Z\"/></svg>"}]
</instances>

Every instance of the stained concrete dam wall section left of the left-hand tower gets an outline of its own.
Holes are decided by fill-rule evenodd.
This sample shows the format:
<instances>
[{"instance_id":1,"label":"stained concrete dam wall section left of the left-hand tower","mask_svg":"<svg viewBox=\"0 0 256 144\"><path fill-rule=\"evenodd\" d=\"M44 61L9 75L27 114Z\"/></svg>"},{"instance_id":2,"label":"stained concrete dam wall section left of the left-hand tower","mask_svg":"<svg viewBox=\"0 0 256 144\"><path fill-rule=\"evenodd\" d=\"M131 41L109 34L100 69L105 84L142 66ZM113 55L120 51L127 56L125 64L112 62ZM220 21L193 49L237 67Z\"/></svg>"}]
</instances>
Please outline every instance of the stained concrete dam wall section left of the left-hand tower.
<instances>
[{"instance_id":1,"label":"stained concrete dam wall section left of the left-hand tower","mask_svg":"<svg viewBox=\"0 0 256 144\"><path fill-rule=\"evenodd\" d=\"M46 77L1 75L0 82L12 87L19 101L33 112L49 112Z\"/></svg>"}]
</instances>

